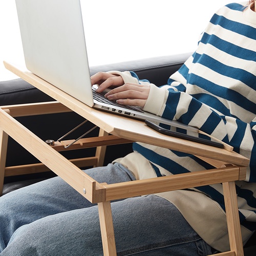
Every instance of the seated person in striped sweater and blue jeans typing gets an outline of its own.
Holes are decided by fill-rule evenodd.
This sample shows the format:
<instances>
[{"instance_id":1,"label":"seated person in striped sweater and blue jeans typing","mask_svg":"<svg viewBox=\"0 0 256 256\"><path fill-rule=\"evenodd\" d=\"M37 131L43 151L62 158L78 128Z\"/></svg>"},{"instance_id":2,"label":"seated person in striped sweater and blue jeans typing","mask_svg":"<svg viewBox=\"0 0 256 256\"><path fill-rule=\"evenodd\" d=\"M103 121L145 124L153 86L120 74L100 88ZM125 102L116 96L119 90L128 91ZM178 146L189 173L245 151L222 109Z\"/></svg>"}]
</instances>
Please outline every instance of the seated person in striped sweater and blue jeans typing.
<instances>
[{"instance_id":1,"label":"seated person in striped sweater and blue jeans typing","mask_svg":"<svg viewBox=\"0 0 256 256\"><path fill-rule=\"evenodd\" d=\"M256 12L254 1L212 16L198 48L158 88L133 72L91 77L121 104L198 127L250 159L236 183L242 238L256 229ZM211 169L195 156L145 143L113 163L85 170L117 183ZM118 255L207 255L229 249L221 184L112 202ZM102 255L97 205L59 177L0 198L0 255Z\"/></svg>"}]
</instances>

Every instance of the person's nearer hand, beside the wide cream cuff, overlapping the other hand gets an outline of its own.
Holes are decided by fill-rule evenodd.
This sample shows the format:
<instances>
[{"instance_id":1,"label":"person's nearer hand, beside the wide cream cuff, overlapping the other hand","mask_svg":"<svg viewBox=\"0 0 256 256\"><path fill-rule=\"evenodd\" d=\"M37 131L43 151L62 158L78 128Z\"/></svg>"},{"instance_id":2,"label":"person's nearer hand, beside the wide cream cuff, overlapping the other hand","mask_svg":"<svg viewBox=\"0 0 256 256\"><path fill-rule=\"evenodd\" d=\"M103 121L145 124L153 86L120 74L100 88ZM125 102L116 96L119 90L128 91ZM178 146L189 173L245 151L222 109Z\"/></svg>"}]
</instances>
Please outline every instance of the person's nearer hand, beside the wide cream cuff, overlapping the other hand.
<instances>
[{"instance_id":1,"label":"person's nearer hand, beside the wide cream cuff, overlapping the other hand","mask_svg":"<svg viewBox=\"0 0 256 256\"><path fill-rule=\"evenodd\" d=\"M116 100L122 105L143 106L150 94L150 86L138 83L125 83L123 86L115 88L105 94L110 100Z\"/></svg>"}]
</instances>

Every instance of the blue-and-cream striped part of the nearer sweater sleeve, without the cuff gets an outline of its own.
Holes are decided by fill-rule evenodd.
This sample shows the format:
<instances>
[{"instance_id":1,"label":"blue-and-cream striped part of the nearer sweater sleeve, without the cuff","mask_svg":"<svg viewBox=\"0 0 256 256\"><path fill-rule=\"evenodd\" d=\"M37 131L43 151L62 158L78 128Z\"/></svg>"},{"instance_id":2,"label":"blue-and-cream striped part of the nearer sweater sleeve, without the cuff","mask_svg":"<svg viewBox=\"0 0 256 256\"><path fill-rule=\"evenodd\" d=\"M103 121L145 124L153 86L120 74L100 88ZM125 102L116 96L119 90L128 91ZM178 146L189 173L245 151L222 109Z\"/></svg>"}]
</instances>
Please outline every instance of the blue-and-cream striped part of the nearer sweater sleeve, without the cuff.
<instances>
[{"instance_id":1,"label":"blue-and-cream striped part of the nearer sweater sleeve, without the cuff","mask_svg":"<svg viewBox=\"0 0 256 256\"><path fill-rule=\"evenodd\" d=\"M234 151L251 159L250 169L256 169L256 118L246 123L238 118L216 113L208 105L184 92L168 91L163 117L198 127L201 131L234 147ZM250 173L247 181L256 182Z\"/></svg>"}]
</instances>

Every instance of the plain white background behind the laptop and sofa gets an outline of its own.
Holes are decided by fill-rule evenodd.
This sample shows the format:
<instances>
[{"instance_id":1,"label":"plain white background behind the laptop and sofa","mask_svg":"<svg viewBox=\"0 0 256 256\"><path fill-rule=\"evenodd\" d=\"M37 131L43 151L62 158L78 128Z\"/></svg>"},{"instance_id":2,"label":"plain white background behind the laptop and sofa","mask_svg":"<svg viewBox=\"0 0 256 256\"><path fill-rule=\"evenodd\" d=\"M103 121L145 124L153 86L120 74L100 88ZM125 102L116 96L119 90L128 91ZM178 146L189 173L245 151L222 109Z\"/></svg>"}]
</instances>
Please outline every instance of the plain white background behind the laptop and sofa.
<instances>
[{"instance_id":1,"label":"plain white background behind the laptop and sofa","mask_svg":"<svg viewBox=\"0 0 256 256\"><path fill-rule=\"evenodd\" d=\"M212 14L231 2L240 1L81 0L90 66L194 51ZM16 78L3 60L23 58L15 0L0 0L0 81Z\"/></svg>"}]
</instances>

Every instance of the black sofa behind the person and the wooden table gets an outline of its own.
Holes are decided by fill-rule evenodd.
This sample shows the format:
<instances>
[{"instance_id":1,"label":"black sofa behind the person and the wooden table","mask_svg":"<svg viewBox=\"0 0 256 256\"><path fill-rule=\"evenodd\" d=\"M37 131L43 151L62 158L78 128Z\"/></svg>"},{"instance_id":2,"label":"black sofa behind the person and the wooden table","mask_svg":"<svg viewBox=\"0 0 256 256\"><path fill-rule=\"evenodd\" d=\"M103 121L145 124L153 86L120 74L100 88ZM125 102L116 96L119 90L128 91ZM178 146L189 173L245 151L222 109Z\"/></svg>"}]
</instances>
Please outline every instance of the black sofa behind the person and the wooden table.
<instances>
[{"instance_id":1,"label":"black sofa behind the person and the wooden table","mask_svg":"<svg viewBox=\"0 0 256 256\"><path fill-rule=\"evenodd\" d=\"M183 53L170 56L152 57L136 61L125 61L91 67L90 71L91 75L99 71L134 71L140 79L148 79L157 86L161 86L166 84L168 77L182 66L189 55L190 53ZM0 105L2 106L45 101L53 101L53 99L22 79L0 82ZM28 127L42 140L57 140L83 121L82 117L73 112L17 117L16 119ZM72 133L72 139L79 137L83 133L82 129L84 129L84 127L77 129L74 133ZM97 134L98 131L96 130L93 133ZM67 139L70 138L68 137ZM118 157L122 157L131 151L131 143L108 146L105 154L104 164L107 164ZM68 159L72 159L93 155L94 153L95 149L89 148L79 151L64 152L61 154L65 155L65 157ZM24 150L22 146L16 143L12 138L9 138L6 166L25 165L37 162L38 160ZM52 172L43 172L5 177L3 194L7 194L14 189L18 189L53 176L55 176L55 174ZM256 254L255 235L256 234L254 234L254 236L252 236L252 238L245 245L245 255Z\"/></svg>"}]
</instances>

